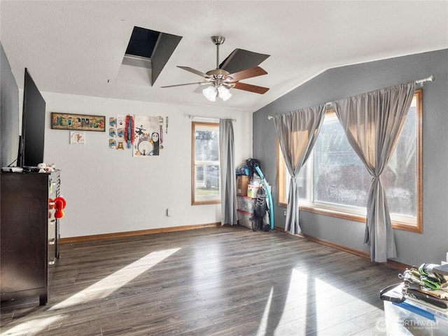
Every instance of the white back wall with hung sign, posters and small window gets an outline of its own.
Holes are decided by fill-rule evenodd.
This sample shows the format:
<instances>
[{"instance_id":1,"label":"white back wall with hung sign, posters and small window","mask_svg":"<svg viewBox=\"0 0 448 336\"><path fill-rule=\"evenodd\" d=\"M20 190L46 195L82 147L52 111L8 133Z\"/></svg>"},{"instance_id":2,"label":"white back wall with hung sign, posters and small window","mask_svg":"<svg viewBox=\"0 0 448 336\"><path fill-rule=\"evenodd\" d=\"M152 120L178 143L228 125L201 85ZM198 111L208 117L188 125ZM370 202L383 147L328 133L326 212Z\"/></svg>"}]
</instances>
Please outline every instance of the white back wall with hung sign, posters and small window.
<instances>
[{"instance_id":1,"label":"white back wall with hung sign, posters and small window","mask_svg":"<svg viewBox=\"0 0 448 336\"><path fill-rule=\"evenodd\" d=\"M221 222L221 204L191 205L192 120L188 116L237 119L235 160L239 165L252 155L252 113L42 94L47 110L44 160L62 170L62 195L67 201L61 237ZM50 128L51 112L106 116L106 132L85 132L84 145L70 145L68 130ZM133 158L130 150L109 149L109 117L117 114L168 116L160 156ZM174 209L171 217L166 216L168 207Z\"/></svg>"}]
</instances>

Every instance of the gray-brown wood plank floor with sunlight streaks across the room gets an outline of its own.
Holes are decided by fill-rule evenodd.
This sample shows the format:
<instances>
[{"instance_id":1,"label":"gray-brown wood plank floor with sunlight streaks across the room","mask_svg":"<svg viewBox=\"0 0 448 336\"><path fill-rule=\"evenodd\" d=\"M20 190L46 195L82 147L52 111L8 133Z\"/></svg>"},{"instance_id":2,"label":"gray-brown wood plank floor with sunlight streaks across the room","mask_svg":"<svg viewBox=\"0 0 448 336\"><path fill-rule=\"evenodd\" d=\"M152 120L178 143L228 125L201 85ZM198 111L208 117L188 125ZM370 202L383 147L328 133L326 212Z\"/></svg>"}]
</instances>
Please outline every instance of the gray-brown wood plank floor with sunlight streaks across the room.
<instances>
[{"instance_id":1,"label":"gray-brown wood plank floor with sunlight streaks across the room","mask_svg":"<svg viewBox=\"0 0 448 336\"><path fill-rule=\"evenodd\" d=\"M207 228L62 244L46 306L0 335L385 335L400 270L279 231Z\"/></svg>"}]
</instances>

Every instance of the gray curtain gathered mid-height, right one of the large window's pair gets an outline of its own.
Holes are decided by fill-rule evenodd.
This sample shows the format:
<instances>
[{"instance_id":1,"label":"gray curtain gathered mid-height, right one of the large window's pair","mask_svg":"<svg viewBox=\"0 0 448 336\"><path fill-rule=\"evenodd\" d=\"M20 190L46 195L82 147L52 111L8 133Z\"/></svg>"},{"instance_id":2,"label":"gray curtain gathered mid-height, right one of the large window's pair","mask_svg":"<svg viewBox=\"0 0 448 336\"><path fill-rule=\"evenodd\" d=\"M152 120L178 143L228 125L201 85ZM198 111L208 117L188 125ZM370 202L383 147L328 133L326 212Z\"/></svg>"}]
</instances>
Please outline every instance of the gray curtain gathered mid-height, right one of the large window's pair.
<instances>
[{"instance_id":1,"label":"gray curtain gathered mid-height, right one of the large window's pair","mask_svg":"<svg viewBox=\"0 0 448 336\"><path fill-rule=\"evenodd\" d=\"M364 243L370 246L370 259L376 262L397 256L380 176L397 144L415 86L412 82L333 102L349 144L372 176Z\"/></svg>"}]
</instances>

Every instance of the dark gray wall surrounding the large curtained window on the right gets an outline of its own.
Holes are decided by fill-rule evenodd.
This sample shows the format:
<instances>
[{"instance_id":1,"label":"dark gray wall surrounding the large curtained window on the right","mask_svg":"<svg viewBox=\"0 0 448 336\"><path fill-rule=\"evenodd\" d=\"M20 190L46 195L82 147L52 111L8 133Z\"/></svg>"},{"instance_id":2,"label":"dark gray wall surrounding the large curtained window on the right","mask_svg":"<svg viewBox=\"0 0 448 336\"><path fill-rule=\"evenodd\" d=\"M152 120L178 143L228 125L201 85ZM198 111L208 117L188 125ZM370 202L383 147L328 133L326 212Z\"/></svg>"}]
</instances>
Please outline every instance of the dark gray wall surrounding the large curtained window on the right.
<instances>
[{"instance_id":1,"label":"dark gray wall surrounding the large curtained window on the right","mask_svg":"<svg viewBox=\"0 0 448 336\"><path fill-rule=\"evenodd\" d=\"M253 113L253 158L272 185L277 203L276 134L268 116L332 102L430 75L423 86L423 234L394 230L395 261L419 266L440 263L448 252L448 50L328 69ZM284 207L275 206L276 227L285 227ZM332 244L369 253L365 223L300 211L302 232ZM300 241L298 241L300 242ZM299 243L300 244L300 243Z\"/></svg>"}]
</instances>

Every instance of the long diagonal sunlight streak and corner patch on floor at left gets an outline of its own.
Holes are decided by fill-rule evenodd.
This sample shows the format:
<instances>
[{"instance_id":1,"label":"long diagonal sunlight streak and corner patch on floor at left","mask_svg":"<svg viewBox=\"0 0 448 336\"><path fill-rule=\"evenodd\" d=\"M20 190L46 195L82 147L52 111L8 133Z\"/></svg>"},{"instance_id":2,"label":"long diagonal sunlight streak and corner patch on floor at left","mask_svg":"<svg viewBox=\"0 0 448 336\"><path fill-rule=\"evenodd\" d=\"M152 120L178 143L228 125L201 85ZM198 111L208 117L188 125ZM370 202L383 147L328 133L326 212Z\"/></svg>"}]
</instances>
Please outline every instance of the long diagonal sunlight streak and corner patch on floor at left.
<instances>
[{"instance_id":1,"label":"long diagonal sunlight streak and corner patch on floor at left","mask_svg":"<svg viewBox=\"0 0 448 336\"><path fill-rule=\"evenodd\" d=\"M83 304L91 300L107 297L114 291L118 290L118 288L125 286L126 283L132 281L132 279L135 279L137 276L146 272L148 269L151 269L151 267L157 265L159 262L165 258L168 258L180 249L181 248L171 248L168 250L151 252L143 258L132 262L132 264L119 269L117 272L106 276L104 279L101 279L84 290L72 295L66 300L55 304L48 310L63 309L75 304ZM62 321L66 317L67 316L64 314L57 314L48 318L34 318L29 321L22 322L6 331L2 331L0 336L37 335L43 330L48 330L49 325L52 323L59 323L58 321Z\"/></svg>"}]
</instances>

